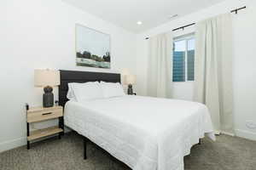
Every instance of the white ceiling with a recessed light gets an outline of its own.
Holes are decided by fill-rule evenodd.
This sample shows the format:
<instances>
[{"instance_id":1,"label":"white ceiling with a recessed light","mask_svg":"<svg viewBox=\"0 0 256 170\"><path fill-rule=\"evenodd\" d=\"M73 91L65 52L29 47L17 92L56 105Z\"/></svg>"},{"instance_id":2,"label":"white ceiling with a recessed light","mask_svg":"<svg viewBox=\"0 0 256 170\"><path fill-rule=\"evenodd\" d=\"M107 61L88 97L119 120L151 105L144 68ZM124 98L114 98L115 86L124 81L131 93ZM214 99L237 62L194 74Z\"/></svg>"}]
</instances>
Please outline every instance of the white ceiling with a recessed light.
<instances>
[{"instance_id":1,"label":"white ceiling with a recessed light","mask_svg":"<svg viewBox=\"0 0 256 170\"><path fill-rule=\"evenodd\" d=\"M178 14L191 14L224 0L63 0L128 31L146 31ZM143 22L138 26L137 21Z\"/></svg>"}]
</instances>

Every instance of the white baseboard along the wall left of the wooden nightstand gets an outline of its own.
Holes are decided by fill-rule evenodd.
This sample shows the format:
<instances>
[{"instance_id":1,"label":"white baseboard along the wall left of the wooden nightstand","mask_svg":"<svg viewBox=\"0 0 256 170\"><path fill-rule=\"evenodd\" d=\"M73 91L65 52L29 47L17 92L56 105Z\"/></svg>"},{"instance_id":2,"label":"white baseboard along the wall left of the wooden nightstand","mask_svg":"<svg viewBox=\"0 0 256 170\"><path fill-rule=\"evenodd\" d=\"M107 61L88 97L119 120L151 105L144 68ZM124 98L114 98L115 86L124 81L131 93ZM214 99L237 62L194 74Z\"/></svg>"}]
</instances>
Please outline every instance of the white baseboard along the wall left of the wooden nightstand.
<instances>
[{"instance_id":1,"label":"white baseboard along the wall left of the wooden nightstand","mask_svg":"<svg viewBox=\"0 0 256 170\"><path fill-rule=\"evenodd\" d=\"M26 137L20 139L13 139L0 143L0 153L5 150L11 150L26 144Z\"/></svg>"}]
</instances>

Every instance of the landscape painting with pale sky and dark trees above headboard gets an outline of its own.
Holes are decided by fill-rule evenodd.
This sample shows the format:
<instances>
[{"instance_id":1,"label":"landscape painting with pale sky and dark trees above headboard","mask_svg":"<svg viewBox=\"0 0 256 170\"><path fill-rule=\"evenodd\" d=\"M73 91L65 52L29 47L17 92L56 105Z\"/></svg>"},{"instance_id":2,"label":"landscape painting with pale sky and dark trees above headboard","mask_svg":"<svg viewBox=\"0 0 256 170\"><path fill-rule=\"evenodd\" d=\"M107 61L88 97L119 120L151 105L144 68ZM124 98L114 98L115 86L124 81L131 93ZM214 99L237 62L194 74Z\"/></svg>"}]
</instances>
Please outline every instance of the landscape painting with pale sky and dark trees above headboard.
<instances>
[{"instance_id":1,"label":"landscape painting with pale sky and dark trees above headboard","mask_svg":"<svg viewBox=\"0 0 256 170\"><path fill-rule=\"evenodd\" d=\"M110 36L76 25L76 64L97 68L110 68Z\"/></svg>"}]
</instances>

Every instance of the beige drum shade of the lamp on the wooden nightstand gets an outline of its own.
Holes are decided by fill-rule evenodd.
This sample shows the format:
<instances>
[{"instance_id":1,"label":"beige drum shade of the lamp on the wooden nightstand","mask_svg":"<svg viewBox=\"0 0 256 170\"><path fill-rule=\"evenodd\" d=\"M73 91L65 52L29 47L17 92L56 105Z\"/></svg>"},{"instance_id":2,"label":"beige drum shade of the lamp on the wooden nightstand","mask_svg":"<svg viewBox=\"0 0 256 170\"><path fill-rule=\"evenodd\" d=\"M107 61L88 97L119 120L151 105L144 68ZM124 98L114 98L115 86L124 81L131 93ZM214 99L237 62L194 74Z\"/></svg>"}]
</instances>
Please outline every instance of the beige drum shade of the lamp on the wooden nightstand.
<instances>
[{"instance_id":1,"label":"beige drum shade of the lamp on the wooden nightstand","mask_svg":"<svg viewBox=\"0 0 256 170\"><path fill-rule=\"evenodd\" d=\"M34 74L35 87L55 87L60 85L60 71L36 69Z\"/></svg>"}]
</instances>

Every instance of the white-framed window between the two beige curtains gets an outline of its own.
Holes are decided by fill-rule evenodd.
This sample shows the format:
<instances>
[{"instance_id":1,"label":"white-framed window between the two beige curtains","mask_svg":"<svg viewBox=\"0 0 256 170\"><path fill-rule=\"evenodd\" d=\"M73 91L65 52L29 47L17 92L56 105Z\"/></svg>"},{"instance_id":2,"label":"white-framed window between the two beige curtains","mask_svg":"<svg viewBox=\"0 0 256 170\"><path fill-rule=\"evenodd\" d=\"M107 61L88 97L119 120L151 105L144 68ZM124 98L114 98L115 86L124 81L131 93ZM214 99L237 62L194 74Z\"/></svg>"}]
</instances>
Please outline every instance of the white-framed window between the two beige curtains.
<instances>
[{"instance_id":1,"label":"white-framed window between the two beige curtains","mask_svg":"<svg viewBox=\"0 0 256 170\"><path fill-rule=\"evenodd\" d=\"M173 82L194 81L195 37L177 37L173 43Z\"/></svg>"}]
</instances>

